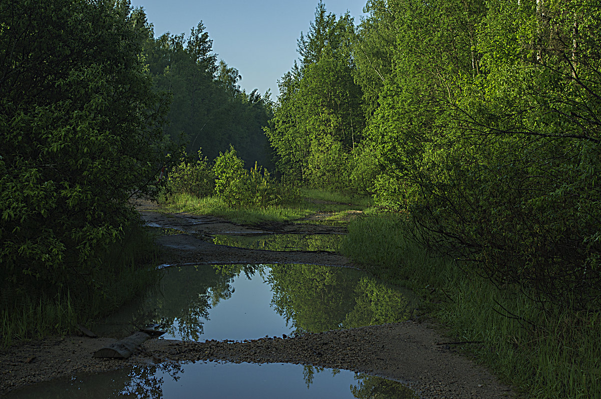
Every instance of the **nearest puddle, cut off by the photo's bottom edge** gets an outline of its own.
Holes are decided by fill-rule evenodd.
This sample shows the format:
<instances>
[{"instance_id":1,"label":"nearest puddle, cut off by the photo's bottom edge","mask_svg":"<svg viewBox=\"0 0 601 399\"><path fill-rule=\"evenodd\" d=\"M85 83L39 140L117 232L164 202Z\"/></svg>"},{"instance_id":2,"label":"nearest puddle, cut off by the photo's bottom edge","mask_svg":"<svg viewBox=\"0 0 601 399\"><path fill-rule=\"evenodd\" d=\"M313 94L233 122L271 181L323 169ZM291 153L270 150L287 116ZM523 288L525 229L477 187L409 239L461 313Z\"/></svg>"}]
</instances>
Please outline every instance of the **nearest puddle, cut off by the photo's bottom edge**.
<instances>
[{"instance_id":1,"label":"nearest puddle, cut off by the photo's bottom edge","mask_svg":"<svg viewBox=\"0 0 601 399\"><path fill-rule=\"evenodd\" d=\"M21 398L417 398L402 383L294 364L197 362L130 367L58 379L11 392Z\"/></svg>"}]
</instances>

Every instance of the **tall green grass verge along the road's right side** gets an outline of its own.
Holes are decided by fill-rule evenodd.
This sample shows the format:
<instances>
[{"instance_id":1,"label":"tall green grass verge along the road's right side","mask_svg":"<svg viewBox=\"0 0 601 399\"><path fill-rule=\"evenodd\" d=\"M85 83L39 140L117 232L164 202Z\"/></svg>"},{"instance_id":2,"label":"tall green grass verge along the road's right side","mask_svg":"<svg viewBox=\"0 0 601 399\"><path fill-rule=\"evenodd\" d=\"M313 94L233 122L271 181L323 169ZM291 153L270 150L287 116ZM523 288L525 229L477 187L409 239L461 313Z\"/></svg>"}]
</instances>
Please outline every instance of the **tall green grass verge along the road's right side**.
<instances>
[{"instance_id":1,"label":"tall green grass verge along the road's right side","mask_svg":"<svg viewBox=\"0 0 601 399\"><path fill-rule=\"evenodd\" d=\"M498 289L452 259L430 256L407 238L409 233L398 215L358 218L342 251L379 277L421 295L427 313L457 341L481 341L460 349L477 355L525 396L601 396L598 310L578 312L566 304L542 312L519 290Z\"/></svg>"}]
</instances>

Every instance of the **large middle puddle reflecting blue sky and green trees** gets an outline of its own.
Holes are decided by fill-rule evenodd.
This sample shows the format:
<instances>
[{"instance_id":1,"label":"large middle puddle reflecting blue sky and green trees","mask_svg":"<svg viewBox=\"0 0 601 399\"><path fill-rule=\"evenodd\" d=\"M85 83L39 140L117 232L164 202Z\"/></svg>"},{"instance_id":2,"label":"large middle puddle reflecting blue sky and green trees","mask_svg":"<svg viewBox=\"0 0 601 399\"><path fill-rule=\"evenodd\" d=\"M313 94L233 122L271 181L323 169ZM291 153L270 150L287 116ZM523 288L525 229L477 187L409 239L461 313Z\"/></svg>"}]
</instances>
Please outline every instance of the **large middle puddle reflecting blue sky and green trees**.
<instances>
[{"instance_id":1,"label":"large middle puddle reflecting blue sky and green trees","mask_svg":"<svg viewBox=\"0 0 601 399\"><path fill-rule=\"evenodd\" d=\"M94 326L121 338L156 325L162 338L234 340L409 319L410 293L365 272L316 265L190 265L162 269L159 287Z\"/></svg>"}]
</instances>

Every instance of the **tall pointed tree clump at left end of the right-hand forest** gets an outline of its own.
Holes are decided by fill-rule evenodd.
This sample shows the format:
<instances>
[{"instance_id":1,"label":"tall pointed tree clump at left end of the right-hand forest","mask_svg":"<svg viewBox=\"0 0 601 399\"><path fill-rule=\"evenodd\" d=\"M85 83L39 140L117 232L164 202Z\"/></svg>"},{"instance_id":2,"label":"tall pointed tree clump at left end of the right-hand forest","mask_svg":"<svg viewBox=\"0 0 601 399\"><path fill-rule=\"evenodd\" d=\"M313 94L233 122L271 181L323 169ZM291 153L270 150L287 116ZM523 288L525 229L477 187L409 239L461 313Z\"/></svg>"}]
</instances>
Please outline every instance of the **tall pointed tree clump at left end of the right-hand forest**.
<instances>
[{"instance_id":1,"label":"tall pointed tree clump at left end of the right-hand forest","mask_svg":"<svg viewBox=\"0 0 601 399\"><path fill-rule=\"evenodd\" d=\"M347 187L347 160L365 121L361 89L353 80L353 19L327 14L320 2L315 22L298 41L302 64L279 82L278 107L265 133L280 172L316 188Z\"/></svg>"}]
</instances>

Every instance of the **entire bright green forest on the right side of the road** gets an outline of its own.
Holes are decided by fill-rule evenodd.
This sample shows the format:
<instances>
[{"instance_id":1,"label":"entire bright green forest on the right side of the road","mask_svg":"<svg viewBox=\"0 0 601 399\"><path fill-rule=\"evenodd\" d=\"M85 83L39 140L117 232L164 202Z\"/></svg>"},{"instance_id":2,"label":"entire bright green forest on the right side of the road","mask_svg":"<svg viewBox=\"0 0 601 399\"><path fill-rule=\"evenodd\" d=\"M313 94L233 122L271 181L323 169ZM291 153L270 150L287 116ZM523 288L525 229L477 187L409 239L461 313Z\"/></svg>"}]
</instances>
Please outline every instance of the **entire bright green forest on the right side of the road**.
<instances>
[{"instance_id":1,"label":"entire bright green forest on the right side of the road","mask_svg":"<svg viewBox=\"0 0 601 399\"><path fill-rule=\"evenodd\" d=\"M355 26L320 2L301 35L266 129L282 172L374 194L429 247L540 304L598 306L599 8L370 0L365 11Z\"/></svg>"}]
</instances>

